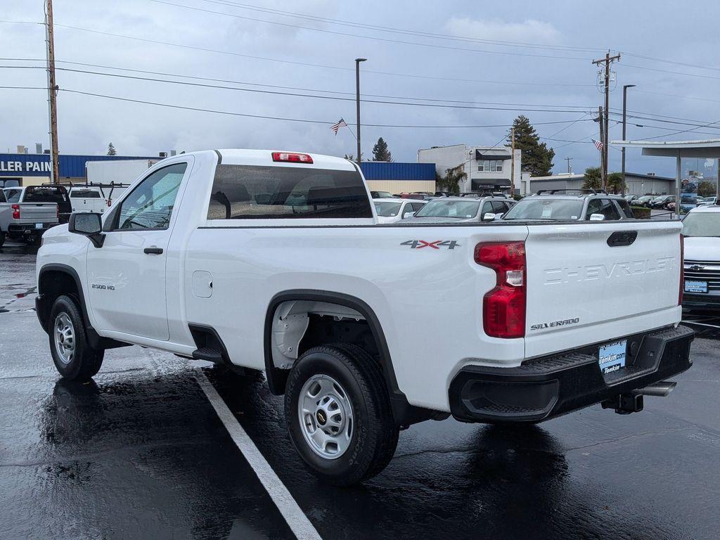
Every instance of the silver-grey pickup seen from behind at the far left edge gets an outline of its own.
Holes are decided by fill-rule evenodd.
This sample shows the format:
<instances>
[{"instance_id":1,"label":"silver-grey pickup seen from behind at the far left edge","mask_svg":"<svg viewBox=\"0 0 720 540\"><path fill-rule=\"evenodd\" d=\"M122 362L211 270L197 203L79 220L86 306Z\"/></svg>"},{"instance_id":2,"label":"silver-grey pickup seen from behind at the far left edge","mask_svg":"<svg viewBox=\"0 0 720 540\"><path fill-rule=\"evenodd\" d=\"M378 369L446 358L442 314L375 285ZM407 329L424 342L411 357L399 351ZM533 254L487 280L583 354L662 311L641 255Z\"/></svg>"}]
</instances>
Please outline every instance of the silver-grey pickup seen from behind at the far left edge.
<instances>
[{"instance_id":1,"label":"silver-grey pickup seen from behind at the far left edge","mask_svg":"<svg viewBox=\"0 0 720 540\"><path fill-rule=\"evenodd\" d=\"M42 233L58 225L58 204L23 200L25 189L8 187L0 190L0 246L5 238L39 244ZM22 201L22 202L21 202Z\"/></svg>"}]
</instances>

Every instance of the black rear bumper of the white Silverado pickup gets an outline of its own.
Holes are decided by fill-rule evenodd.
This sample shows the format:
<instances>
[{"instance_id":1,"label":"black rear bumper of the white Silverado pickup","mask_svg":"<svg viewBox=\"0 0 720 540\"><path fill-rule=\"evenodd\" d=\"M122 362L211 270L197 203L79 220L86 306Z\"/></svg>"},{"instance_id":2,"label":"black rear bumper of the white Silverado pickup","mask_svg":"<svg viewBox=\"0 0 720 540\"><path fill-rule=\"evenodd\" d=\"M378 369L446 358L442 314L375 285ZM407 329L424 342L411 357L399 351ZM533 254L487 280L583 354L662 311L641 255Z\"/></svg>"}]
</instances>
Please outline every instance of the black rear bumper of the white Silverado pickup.
<instances>
[{"instance_id":1,"label":"black rear bumper of the white Silverado pickup","mask_svg":"<svg viewBox=\"0 0 720 540\"><path fill-rule=\"evenodd\" d=\"M549 420L684 372L694 336L685 326L628 336L625 369L606 375L603 343L512 368L467 366L450 383L450 410L464 422Z\"/></svg>"}]
</instances>

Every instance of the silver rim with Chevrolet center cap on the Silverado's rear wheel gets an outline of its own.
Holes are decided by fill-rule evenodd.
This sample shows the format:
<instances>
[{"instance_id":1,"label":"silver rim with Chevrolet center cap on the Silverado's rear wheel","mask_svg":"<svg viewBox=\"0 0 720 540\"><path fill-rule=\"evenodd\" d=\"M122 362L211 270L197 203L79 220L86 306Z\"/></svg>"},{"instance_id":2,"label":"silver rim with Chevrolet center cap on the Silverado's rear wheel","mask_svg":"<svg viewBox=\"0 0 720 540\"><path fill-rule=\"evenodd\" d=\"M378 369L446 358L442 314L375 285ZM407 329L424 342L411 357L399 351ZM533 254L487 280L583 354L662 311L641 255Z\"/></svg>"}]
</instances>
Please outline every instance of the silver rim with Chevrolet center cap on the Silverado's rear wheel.
<instances>
[{"instance_id":1,"label":"silver rim with Chevrolet center cap on the Silverado's rear wheel","mask_svg":"<svg viewBox=\"0 0 720 540\"><path fill-rule=\"evenodd\" d=\"M347 392L325 374L313 375L297 402L300 431L310 449L325 459L345 454L353 437L353 408Z\"/></svg>"}]
</instances>

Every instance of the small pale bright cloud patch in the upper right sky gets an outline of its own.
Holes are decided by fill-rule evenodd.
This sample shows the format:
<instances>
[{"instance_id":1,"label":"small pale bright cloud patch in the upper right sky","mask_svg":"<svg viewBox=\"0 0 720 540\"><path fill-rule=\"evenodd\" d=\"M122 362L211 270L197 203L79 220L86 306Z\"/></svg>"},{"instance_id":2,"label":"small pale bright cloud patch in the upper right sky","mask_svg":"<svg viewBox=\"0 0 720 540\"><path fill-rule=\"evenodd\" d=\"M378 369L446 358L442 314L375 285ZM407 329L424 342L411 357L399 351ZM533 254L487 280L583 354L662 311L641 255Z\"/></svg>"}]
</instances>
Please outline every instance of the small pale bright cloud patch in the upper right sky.
<instances>
[{"instance_id":1,"label":"small pale bright cloud patch in the upper right sky","mask_svg":"<svg viewBox=\"0 0 720 540\"><path fill-rule=\"evenodd\" d=\"M445 31L457 37L543 44L557 43L560 37L552 24L535 19L503 22L498 19L452 17L445 23Z\"/></svg>"}]
</instances>

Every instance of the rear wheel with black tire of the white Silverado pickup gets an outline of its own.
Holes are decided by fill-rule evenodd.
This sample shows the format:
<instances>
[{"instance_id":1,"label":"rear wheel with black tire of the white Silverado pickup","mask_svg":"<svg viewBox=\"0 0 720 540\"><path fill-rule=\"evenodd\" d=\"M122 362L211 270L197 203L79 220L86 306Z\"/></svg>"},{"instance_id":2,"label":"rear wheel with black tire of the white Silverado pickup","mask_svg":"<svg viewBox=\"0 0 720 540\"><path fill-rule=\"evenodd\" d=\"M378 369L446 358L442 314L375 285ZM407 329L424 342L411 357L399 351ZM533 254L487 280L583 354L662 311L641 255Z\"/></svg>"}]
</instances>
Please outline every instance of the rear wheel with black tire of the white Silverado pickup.
<instances>
[{"instance_id":1,"label":"rear wheel with black tire of the white Silverado pickup","mask_svg":"<svg viewBox=\"0 0 720 540\"><path fill-rule=\"evenodd\" d=\"M285 421L311 472L334 485L375 476L392 459L399 430L377 361L346 344L305 352L290 372Z\"/></svg>"}]
</instances>

